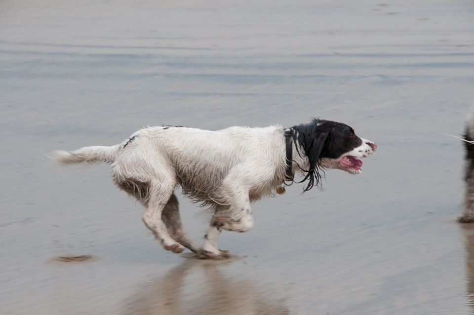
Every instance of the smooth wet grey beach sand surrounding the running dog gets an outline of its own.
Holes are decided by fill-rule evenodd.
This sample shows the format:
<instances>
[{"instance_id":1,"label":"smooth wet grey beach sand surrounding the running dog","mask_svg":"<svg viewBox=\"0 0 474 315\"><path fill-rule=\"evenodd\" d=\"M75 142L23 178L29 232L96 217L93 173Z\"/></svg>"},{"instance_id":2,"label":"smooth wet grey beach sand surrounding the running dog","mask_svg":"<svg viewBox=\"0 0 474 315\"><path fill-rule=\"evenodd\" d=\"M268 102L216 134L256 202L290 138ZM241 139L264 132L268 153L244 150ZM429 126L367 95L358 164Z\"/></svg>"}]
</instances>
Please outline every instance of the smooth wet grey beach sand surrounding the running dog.
<instances>
[{"instance_id":1,"label":"smooth wet grey beach sand surrounding the running dog","mask_svg":"<svg viewBox=\"0 0 474 315\"><path fill-rule=\"evenodd\" d=\"M474 100L473 16L447 0L2 1L0 314L473 313L463 151L444 135ZM147 125L311 117L376 155L255 203L254 229L221 237L231 261L164 251L108 166L44 158ZM200 239L208 214L180 203Z\"/></svg>"}]
</instances>

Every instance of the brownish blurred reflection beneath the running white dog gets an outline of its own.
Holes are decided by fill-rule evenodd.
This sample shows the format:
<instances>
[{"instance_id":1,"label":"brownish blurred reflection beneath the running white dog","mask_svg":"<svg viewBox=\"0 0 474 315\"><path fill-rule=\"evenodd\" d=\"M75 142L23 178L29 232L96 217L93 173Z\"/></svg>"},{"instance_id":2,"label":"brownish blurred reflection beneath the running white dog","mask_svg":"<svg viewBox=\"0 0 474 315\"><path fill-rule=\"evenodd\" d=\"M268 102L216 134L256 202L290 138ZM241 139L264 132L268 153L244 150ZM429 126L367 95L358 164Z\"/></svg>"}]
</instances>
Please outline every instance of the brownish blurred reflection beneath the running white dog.
<instances>
[{"instance_id":1,"label":"brownish blurred reflection beneath the running white dog","mask_svg":"<svg viewBox=\"0 0 474 315\"><path fill-rule=\"evenodd\" d=\"M232 262L232 260L231 260ZM248 280L223 275L229 261L187 257L166 276L150 282L132 298L125 314L142 315L288 315L281 301Z\"/></svg>"}]
</instances>

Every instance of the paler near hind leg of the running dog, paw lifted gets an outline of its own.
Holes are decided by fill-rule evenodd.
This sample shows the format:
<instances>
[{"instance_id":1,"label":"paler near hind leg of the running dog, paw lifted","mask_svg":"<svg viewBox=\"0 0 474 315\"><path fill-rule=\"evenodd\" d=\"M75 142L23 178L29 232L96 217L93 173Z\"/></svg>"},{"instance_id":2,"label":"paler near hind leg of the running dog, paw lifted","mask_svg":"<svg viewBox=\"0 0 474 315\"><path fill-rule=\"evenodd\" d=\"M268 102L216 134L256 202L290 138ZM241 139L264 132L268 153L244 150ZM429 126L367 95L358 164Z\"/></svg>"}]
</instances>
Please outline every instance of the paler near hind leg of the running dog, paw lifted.
<instances>
[{"instance_id":1,"label":"paler near hind leg of the running dog, paw lifted","mask_svg":"<svg viewBox=\"0 0 474 315\"><path fill-rule=\"evenodd\" d=\"M147 202L147 209L143 214L142 220L161 242L164 249L170 250L174 253L180 253L184 250L184 247L171 238L161 224L161 213L165 205L168 203L168 200L173 195L173 190L174 185L165 185L159 182L152 183Z\"/></svg>"}]
</instances>

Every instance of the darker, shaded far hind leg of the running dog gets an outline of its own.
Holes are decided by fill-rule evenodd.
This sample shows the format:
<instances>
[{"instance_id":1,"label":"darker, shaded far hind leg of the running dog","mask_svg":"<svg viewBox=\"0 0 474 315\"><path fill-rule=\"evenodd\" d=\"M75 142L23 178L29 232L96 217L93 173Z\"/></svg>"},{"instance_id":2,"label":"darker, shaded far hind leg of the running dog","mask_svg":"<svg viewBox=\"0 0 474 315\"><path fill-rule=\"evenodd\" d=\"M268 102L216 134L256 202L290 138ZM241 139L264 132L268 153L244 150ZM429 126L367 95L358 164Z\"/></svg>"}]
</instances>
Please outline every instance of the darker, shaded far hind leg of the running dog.
<instances>
[{"instance_id":1,"label":"darker, shaded far hind leg of the running dog","mask_svg":"<svg viewBox=\"0 0 474 315\"><path fill-rule=\"evenodd\" d=\"M161 213L161 219L166 225L169 235L173 237L173 239L195 253L201 251L201 244L191 238L191 236L189 236L184 230L183 224L181 223L181 216L179 215L178 199L175 194L171 195L164 206L163 212Z\"/></svg>"}]
</instances>

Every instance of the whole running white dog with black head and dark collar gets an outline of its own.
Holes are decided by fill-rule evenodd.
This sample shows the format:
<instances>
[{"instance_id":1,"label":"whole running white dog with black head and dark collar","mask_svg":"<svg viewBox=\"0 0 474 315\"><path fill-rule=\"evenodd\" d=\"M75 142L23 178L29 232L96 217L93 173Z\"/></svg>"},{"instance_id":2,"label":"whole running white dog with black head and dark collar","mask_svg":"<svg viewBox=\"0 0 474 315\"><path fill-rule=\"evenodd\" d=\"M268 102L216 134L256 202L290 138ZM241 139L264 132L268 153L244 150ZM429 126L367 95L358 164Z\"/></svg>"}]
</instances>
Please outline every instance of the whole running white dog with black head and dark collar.
<instances>
[{"instance_id":1,"label":"whole running white dog with black head and dark collar","mask_svg":"<svg viewBox=\"0 0 474 315\"><path fill-rule=\"evenodd\" d=\"M143 222L164 249L180 253L186 247L219 258L225 256L217 248L222 230L247 232L253 227L253 201L282 193L295 172L303 176L299 183L307 182L305 191L320 182L320 169L358 174L360 158L376 148L346 124L313 119L287 129L148 127L115 146L56 151L52 158L59 164L109 163L117 186L146 207ZM203 245L181 224L178 185L186 196L215 211Z\"/></svg>"}]
</instances>

